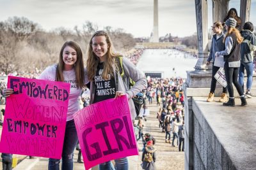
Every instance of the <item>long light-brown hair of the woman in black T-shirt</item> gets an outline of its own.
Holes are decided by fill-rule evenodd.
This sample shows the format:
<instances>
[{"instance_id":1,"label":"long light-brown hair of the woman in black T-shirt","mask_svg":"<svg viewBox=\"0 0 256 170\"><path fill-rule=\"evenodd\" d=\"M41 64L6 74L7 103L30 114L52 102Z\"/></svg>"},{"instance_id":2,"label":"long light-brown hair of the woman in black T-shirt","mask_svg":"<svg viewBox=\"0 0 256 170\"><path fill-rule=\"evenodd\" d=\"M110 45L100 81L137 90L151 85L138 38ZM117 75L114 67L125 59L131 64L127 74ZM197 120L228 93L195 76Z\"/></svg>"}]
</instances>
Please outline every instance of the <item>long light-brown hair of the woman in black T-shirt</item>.
<instances>
[{"instance_id":1,"label":"long light-brown hair of the woman in black T-shirt","mask_svg":"<svg viewBox=\"0 0 256 170\"><path fill-rule=\"evenodd\" d=\"M90 81L94 80L94 76L97 71L97 66L100 62L99 57L97 57L97 55L95 55L95 53L93 52L93 49L92 49L92 39L95 36L105 36L106 42L108 43L108 52L106 53L106 62L104 62L104 68L102 71L102 78L104 80L108 80L108 74L110 74L112 77L114 76L114 71L113 71L112 66L113 66L113 64L115 64L115 57L120 56L120 54L113 52L113 43L112 43L111 39L109 38L108 33L105 31L94 32L94 34L92 35L92 38L90 39L90 43L87 48L88 50L87 50L87 61L86 61L86 67L87 67L87 71L88 71L88 79Z\"/></svg>"}]
</instances>

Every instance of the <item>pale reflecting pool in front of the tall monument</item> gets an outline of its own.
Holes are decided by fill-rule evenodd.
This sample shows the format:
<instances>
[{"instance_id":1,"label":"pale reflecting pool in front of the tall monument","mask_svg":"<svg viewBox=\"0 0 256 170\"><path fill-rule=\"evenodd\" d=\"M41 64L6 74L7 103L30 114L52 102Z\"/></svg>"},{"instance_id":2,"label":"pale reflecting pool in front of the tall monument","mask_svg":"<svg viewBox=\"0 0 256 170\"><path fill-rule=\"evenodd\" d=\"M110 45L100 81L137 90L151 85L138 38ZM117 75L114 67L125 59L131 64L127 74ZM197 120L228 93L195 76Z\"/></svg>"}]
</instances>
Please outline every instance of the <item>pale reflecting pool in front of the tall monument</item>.
<instances>
[{"instance_id":1,"label":"pale reflecting pool in front of the tall monument","mask_svg":"<svg viewBox=\"0 0 256 170\"><path fill-rule=\"evenodd\" d=\"M163 78L187 77L186 71L194 71L197 59L174 49L144 50L137 64L143 73L162 73Z\"/></svg>"}]
</instances>

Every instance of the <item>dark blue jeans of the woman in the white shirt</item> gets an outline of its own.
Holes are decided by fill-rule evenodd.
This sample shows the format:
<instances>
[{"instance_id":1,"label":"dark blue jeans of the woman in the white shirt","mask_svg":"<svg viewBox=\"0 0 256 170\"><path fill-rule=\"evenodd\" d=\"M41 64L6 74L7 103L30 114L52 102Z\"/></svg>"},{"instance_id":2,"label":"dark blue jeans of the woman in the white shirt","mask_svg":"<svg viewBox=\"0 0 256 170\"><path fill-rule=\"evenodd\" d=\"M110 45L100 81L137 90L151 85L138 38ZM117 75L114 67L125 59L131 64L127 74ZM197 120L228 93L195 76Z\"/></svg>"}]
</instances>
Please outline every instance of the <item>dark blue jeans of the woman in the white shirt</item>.
<instances>
[{"instance_id":1,"label":"dark blue jeans of the woman in the white shirt","mask_svg":"<svg viewBox=\"0 0 256 170\"><path fill-rule=\"evenodd\" d=\"M62 170L73 170L73 156L76 143L78 141L76 125L74 120L70 120L66 123L65 137L62 149ZM60 169L60 159L49 159L49 170Z\"/></svg>"}]
</instances>

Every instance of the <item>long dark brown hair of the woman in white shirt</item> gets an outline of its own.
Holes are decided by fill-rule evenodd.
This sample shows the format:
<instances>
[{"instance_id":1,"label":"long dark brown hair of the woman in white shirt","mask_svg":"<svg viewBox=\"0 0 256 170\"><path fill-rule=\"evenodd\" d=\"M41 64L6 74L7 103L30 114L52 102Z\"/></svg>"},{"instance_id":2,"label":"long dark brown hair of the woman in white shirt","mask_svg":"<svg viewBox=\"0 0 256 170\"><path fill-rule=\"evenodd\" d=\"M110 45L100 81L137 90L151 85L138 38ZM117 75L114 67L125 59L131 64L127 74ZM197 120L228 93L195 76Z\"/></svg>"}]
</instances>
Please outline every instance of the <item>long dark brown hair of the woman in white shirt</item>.
<instances>
[{"instance_id":1,"label":"long dark brown hair of the woman in white shirt","mask_svg":"<svg viewBox=\"0 0 256 170\"><path fill-rule=\"evenodd\" d=\"M56 70L56 81L64 81L63 70L64 70L64 61L63 61L63 50L66 46L70 46L74 50L76 50L76 64L74 64L74 69L76 72L76 85L78 88L84 87L84 63L83 63L83 53L80 46L74 41L66 41L60 50L59 62L57 64Z\"/></svg>"}]
</instances>

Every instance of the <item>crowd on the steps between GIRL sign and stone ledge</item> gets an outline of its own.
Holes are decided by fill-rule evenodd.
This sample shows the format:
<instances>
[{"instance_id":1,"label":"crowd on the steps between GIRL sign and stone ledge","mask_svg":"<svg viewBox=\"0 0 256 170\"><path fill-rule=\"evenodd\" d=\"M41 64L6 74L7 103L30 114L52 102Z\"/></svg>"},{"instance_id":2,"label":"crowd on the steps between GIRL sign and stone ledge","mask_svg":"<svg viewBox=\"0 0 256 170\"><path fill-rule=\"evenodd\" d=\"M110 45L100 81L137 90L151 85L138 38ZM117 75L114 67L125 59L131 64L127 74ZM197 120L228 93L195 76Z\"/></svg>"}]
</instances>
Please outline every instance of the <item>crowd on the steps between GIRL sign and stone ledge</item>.
<instances>
[{"instance_id":1,"label":"crowd on the steps between GIRL sign and stone ledge","mask_svg":"<svg viewBox=\"0 0 256 170\"><path fill-rule=\"evenodd\" d=\"M165 133L165 138L163 136L165 142L170 143L173 147L177 146L180 152L184 152L185 128L182 83L184 83L182 78L148 78L148 87L142 91L145 103L141 108L141 110L145 110L148 105L152 105L154 104L153 101L156 101L156 106L159 107L159 111L156 113L156 118L159 121L159 130ZM155 169L156 149L154 144L156 139L152 134L144 134L145 124L143 121L147 121L147 118L143 117L143 115L140 115L137 120L133 120L136 139L137 141L141 140L143 143L141 166L143 169ZM147 149L147 146L150 149ZM149 161L148 157L150 157Z\"/></svg>"}]
</instances>

